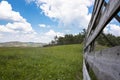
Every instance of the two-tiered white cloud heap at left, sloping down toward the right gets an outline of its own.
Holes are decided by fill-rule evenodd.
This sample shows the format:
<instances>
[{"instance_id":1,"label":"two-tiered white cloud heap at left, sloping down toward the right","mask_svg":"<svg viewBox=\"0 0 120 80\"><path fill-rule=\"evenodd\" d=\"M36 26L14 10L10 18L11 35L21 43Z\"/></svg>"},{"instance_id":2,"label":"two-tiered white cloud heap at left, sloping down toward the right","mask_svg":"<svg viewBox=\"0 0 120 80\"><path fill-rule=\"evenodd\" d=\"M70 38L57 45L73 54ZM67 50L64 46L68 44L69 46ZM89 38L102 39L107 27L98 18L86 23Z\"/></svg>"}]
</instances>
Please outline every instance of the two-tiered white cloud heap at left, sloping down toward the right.
<instances>
[{"instance_id":1,"label":"two-tiered white cloud heap at left, sloping down toward the right","mask_svg":"<svg viewBox=\"0 0 120 80\"><path fill-rule=\"evenodd\" d=\"M0 25L0 32L35 33L31 24L19 12L13 11L12 6L7 1L0 2L0 20L12 21L6 25Z\"/></svg>"}]
</instances>

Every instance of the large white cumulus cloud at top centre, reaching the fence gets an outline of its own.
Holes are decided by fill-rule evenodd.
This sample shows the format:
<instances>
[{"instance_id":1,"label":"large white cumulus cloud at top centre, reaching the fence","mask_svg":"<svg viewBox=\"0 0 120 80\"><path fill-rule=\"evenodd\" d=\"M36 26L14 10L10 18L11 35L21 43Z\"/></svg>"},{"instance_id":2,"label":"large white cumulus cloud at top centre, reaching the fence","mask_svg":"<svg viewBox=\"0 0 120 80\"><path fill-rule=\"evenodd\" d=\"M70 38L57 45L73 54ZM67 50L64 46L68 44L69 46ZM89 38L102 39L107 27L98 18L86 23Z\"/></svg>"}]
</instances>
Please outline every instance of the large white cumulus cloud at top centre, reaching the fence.
<instances>
[{"instance_id":1,"label":"large white cumulus cloud at top centre, reaching the fence","mask_svg":"<svg viewBox=\"0 0 120 80\"><path fill-rule=\"evenodd\" d=\"M58 20L60 25L86 28L91 16L88 7L93 5L94 0L27 0L32 1L46 16Z\"/></svg>"}]
</instances>

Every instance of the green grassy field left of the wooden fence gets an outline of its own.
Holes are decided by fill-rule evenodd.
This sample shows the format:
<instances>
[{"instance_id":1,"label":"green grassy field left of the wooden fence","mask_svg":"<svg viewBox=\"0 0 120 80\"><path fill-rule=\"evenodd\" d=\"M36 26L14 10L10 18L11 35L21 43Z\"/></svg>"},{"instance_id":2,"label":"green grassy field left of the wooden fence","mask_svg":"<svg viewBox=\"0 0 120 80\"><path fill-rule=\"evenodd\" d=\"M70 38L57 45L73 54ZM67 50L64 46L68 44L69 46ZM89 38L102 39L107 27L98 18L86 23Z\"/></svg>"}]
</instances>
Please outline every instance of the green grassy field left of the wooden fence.
<instances>
[{"instance_id":1,"label":"green grassy field left of the wooden fence","mask_svg":"<svg viewBox=\"0 0 120 80\"><path fill-rule=\"evenodd\" d=\"M82 80L82 45L0 48L0 80Z\"/></svg>"}]
</instances>

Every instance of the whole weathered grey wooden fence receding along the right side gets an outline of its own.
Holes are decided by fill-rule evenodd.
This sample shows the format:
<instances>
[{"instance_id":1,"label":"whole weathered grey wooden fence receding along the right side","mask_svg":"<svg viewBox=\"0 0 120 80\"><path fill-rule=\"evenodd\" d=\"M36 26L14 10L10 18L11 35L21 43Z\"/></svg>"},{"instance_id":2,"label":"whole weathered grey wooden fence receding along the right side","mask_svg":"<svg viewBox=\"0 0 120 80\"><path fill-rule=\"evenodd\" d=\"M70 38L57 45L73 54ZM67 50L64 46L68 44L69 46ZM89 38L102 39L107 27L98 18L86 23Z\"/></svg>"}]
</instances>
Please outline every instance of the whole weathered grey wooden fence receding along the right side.
<instances>
[{"instance_id":1,"label":"whole weathered grey wooden fence receding along the right side","mask_svg":"<svg viewBox=\"0 0 120 80\"><path fill-rule=\"evenodd\" d=\"M89 69L92 69L97 80L120 80L120 46L98 52L94 43L106 25L116 18L120 23L120 0L95 0L92 17L85 37L83 78L92 80Z\"/></svg>"}]
</instances>

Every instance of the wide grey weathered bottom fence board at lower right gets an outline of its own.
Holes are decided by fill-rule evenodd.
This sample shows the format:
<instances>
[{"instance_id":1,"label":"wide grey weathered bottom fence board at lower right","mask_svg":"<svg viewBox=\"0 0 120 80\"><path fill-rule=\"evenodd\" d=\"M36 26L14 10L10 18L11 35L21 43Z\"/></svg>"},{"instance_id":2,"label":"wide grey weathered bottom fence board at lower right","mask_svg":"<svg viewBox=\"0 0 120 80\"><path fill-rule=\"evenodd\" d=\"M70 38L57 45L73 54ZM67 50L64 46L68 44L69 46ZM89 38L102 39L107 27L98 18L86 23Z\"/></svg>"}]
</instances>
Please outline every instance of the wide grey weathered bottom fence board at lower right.
<instances>
[{"instance_id":1,"label":"wide grey weathered bottom fence board at lower right","mask_svg":"<svg viewBox=\"0 0 120 80\"><path fill-rule=\"evenodd\" d=\"M87 55L98 80L120 80L120 46Z\"/></svg>"}]
</instances>

